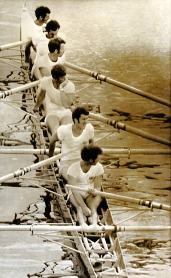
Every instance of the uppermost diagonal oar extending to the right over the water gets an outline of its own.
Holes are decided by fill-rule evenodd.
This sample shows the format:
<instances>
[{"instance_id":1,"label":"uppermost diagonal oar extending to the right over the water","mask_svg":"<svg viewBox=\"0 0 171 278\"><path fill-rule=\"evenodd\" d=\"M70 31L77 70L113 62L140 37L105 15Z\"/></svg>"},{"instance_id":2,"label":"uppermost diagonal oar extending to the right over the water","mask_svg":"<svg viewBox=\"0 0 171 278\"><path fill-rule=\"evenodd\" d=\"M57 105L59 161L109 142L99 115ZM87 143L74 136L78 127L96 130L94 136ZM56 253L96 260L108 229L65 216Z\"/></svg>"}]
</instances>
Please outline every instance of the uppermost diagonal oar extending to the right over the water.
<instances>
[{"instance_id":1,"label":"uppermost diagonal oar extending to the right over the water","mask_svg":"<svg viewBox=\"0 0 171 278\"><path fill-rule=\"evenodd\" d=\"M89 75L89 76L91 76L91 77L94 77L94 78L96 78L97 80L101 80L101 81L107 82L107 83L112 84L112 85L114 85L114 86L116 86L116 87L119 87L119 88L122 88L122 89L124 89L124 90L127 90L127 91L129 91L129 92L131 92L131 93L139 94L139 95L144 96L144 97L146 97L146 98L149 98L149 99L151 99L151 100L153 100L153 101L156 101L156 102L158 102L158 103L161 103L161 104L164 104L164 105L166 105L166 106L168 106L168 107L171 107L171 102L168 101L168 100L166 100L166 99L163 99L163 98L161 98L161 97L159 97L159 96L155 96L155 95L153 95L153 94L150 94L150 93L141 91L141 90L136 89L136 88L134 88L134 87L131 87L131 86L127 85L127 84L124 84L124 83L121 83L121 82L119 82L119 81L116 81L116 80L114 80L114 79L112 79L112 78L109 78L109 77L107 77L107 76L105 76L105 75L103 75L103 74L100 74L100 73L98 73L98 72L94 72L94 71L91 71L91 70L87 70L87 69L85 69L85 68L82 68L82 67L73 65L73 64L68 63L68 62L65 62L64 65L65 65L66 67L70 68L70 69L78 70L78 71L80 71L80 72L82 72L82 73L85 73L86 75Z\"/></svg>"}]
</instances>

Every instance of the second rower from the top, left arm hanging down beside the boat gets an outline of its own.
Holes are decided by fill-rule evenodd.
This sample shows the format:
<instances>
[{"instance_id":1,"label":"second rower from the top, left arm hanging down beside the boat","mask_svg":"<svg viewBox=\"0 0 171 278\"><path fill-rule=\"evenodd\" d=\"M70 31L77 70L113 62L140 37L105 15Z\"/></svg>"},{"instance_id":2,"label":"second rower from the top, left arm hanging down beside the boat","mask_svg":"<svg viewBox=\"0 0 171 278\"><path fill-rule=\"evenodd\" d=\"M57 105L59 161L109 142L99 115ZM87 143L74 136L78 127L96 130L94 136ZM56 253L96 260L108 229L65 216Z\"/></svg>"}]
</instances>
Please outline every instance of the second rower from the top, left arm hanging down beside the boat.
<instances>
[{"instance_id":1,"label":"second rower from the top, left arm hanging down beside the boat","mask_svg":"<svg viewBox=\"0 0 171 278\"><path fill-rule=\"evenodd\" d=\"M31 40L26 43L25 47L25 64L22 66L23 69L28 70L29 62L33 64L33 61L30 61L30 47L32 46L34 49L36 48L36 58L34 61L33 68L31 70L32 76L34 76L34 70L37 67L38 59L43 56L44 54L48 53L48 43L49 39L57 37L58 31L60 29L60 24L55 21L51 20L46 25L46 31L34 36ZM59 37L65 40L65 34L60 33ZM31 65L32 66L32 65ZM35 76L37 79L37 76Z\"/></svg>"}]
</instances>

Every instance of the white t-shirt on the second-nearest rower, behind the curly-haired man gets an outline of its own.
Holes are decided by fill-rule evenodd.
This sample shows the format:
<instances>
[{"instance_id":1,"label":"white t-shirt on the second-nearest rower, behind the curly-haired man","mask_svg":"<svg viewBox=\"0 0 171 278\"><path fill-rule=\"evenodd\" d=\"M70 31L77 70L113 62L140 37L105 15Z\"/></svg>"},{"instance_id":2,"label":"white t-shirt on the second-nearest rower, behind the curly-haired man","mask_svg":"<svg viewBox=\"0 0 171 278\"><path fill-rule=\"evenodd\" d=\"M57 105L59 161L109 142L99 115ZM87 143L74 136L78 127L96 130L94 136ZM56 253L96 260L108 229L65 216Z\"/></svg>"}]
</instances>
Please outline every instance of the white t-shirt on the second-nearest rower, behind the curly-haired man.
<instances>
[{"instance_id":1,"label":"white t-shirt on the second-nearest rower, behind the curly-haired man","mask_svg":"<svg viewBox=\"0 0 171 278\"><path fill-rule=\"evenodd\" d=\"M58 138L62 141L62 155L71 149L75 148L72 153L69 153L61 158L61 161L81 160L81 149L88 145L89 140L94 137L94 128L92 124L87 123L82 134L78 137L73 136L72 123L61 125L57 130Z\"/></svg>"}]
</instances>

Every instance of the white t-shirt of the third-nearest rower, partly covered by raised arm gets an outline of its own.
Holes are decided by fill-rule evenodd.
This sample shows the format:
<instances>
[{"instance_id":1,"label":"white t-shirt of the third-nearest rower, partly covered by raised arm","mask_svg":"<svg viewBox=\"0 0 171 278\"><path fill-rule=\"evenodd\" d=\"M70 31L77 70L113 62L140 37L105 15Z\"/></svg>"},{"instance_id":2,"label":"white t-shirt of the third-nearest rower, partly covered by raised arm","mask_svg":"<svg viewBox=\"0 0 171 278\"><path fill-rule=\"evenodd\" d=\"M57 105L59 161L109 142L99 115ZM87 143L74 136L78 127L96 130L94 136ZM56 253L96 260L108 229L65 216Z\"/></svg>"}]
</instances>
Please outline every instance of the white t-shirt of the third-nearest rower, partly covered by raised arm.
<instances>
[{"instance_id":1,"label":"white t-shirt of the third-nearest rower, partly covered by raised arm","mask_svg":"<svg viewBox=\"0 0 171 278\"><path fill-rule=\"evenodd\" d=\"M53 86L52 80L52 76L44 76L40 83L41 89L45 91L47 113L56 110L65 111L61 101L60 90ZM75 86L71 81L68 81L67 85L64 87L64 92L75 93Z\"/></svg>"}]
</instances>

